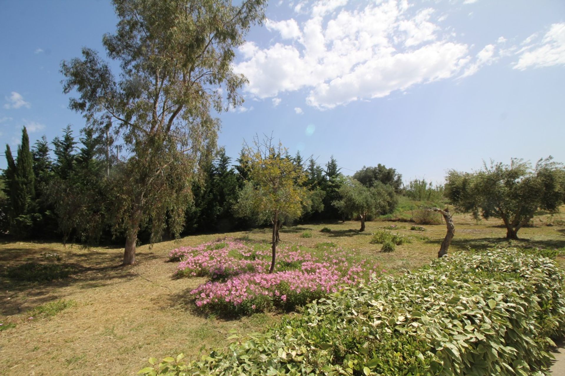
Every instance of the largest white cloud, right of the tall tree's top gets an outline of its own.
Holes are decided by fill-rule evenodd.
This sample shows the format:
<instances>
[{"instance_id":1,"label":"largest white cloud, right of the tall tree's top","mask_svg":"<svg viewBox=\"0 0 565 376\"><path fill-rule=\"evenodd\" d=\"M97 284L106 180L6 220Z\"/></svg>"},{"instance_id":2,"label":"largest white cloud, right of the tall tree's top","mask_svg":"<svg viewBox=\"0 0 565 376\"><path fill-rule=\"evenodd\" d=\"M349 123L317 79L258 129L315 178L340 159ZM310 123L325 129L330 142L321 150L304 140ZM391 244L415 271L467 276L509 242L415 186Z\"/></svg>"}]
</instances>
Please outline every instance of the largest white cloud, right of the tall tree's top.
<instances>
[{"instance_id":1,"label":"largest white cloud, right of the tall tree's top","mask_svg":"<svg viewBox=\"0 0 565 376\"><path fill-rule=\"evenodd\" d=\"M266 47L245 43L234 65L250 81L246 92L263 99L306 89L306 103L323 110L457 77L489 61L488 50L473 58L467 44L453 40L453 30L438 27L432 8L406 0L353 10L345 4L299 2L294 10L308 15L301 21L267 21L279 38Z\"/></svg>"}]
</instances>

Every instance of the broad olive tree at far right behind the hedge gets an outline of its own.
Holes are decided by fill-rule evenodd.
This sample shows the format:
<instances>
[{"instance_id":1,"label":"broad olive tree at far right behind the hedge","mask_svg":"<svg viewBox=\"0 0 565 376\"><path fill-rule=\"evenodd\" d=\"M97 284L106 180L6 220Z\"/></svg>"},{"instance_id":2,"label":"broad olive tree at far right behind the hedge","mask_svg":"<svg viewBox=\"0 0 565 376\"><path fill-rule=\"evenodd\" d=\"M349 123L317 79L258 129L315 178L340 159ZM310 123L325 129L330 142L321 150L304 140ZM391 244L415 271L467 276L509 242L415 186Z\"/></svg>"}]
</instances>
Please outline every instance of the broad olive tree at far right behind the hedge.
<instances>
[{"instance_id":1,"label":"broad olive tree at far right behind the hedge","mask_svg":"<svg viewBox=\"0 0 565 376\"><path fill-rule=\"evenodd\" d=\"M557 212L565 200L565 170L551 157L534 167L521 159L491 161L472 173L450 170L446 180L446 196L459 211L501 218L507 239L518 239L518 231L536 211Z\"/></svg>"}]
</instances>

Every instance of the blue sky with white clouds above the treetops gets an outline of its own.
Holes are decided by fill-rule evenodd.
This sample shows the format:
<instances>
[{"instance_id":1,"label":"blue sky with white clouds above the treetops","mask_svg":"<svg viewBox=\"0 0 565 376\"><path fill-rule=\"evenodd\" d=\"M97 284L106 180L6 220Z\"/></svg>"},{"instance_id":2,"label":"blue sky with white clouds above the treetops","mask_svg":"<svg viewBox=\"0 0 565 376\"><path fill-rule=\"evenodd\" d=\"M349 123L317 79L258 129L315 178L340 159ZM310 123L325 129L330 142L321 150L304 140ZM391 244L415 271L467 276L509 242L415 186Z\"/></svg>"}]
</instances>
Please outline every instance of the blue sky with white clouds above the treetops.
<instances>
[{"instance_id":1,"label":"blue sky with white clouds above the treetops","mask_svg":"<svg viewBox=\"0 0 565 376\"><path fill-rule=\"evenodd\" d=\"M110 2L0 1L0 141L14 150L84 120L60 62L103 53ZM385 164L442 182L483 160L565 162L565 2L278 1L238 49L245 103L220 115L219 145L273 134L344 173ZM0 168L5 167L0 160Z\"/></svg>"}]
</instances>

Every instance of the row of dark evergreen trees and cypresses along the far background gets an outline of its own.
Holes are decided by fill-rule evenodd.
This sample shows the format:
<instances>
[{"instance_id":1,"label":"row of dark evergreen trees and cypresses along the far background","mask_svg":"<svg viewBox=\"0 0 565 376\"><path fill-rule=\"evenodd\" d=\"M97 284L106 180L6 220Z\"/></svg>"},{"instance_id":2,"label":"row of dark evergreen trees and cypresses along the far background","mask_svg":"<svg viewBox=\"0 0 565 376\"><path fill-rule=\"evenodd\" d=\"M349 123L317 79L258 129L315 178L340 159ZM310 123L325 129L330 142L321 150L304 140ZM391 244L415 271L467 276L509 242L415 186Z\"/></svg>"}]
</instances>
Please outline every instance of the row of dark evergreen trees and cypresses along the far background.
<instances>
[{"instance_id":1,"label":"row of dark evergreen trees and cypresses along the far background","mask_svg":"<svg viewBox=\"0 0 565 376\"><path fill-rule=\"evenodd\" d=\"M104 138L94 137L88 128L77 142L67 126L53 141L48 142L44 136L31 146L24 128L16 155L6 145L7 168L0 179L0 233L18 239L123 243L123 231L112 228L116 222L113 217L123 213L111 207L110 198L115 199L115 192L107 180L124 171L107 143ZM201 164L197 178L188 182L193 200L185 210L183 235L269 225L258 222L255 216L242 216L235 208L240 191L249 181L243 156L244 150L232 163L220 148ZM369 210L367 219L392 213L398 194L414 200L434 200L442 195L441 186L424 180L413 180L403 187L401 174L381 164L363 167L353 177L346 177L333 156L323 165L313 158L303 159L299 152L294 156L286 154L285 158L306 176L303 186L311 192L310 207L301 217L293 218L298 222L338 221L366 214L356 211L355 206L345 207L347 195L362 196L351 182L359 182L361 188L367 189L378 186L378 192L386 196L386 203ZM350 187L349 191L346 187ZM150 232L151 224L144 224L140 241L148 242ZM168 226L163 235L170 237Z\"/></svg>"}]
</instances>

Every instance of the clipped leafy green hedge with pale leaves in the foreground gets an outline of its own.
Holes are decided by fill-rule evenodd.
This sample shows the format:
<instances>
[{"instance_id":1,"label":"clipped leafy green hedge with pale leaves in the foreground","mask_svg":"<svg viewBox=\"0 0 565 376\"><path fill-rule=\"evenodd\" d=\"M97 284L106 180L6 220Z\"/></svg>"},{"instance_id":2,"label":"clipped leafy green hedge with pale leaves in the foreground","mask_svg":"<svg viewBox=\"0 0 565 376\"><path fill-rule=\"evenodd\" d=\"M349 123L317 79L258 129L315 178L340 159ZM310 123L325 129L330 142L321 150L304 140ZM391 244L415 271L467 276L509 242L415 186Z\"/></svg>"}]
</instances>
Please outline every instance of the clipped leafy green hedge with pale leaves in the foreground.
<instances>
[{"instance_id":1,"label":"clipped leafy green hedge with pale leaves in the foreground","mask_svg":"<svg viewBox=\"0 0 565 376\"><path fill-rule=\"evenodd\" d=\"M155 375L546 375L565 334L563 273L518 250L459 253L306 306L265 334Z\"/></svg>"}]
</instances>

